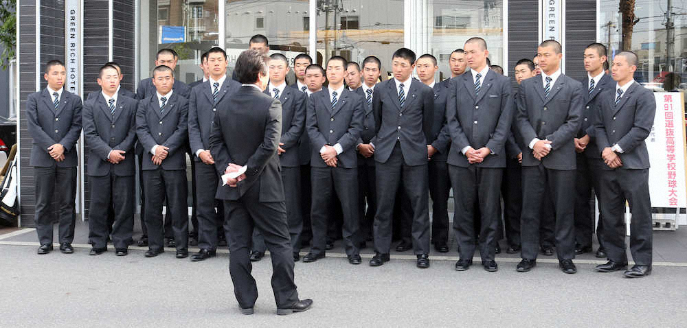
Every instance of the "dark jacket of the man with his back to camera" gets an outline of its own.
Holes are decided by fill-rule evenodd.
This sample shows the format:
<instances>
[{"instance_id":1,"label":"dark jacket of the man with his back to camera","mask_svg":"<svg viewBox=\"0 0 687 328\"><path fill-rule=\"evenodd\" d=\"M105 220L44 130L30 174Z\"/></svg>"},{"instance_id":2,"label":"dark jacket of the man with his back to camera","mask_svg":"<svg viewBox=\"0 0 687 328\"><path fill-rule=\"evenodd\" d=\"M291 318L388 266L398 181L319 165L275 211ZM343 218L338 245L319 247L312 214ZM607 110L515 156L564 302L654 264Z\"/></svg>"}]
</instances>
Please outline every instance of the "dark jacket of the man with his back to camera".
<instances>
[{"instance_id":1,"label":"dark jacket of the man with his back to camera","mask_svg":"<svg viewBox=\"0 0 687 328\"><path fill-rule=\"evenodd\" d=\"M253 86L241 86L219 108L210 132L210 153L218 174L229 163L247 165L246 179L236 187L219 182L216 198L238 200L256 183L260 202L283 202L281 166L277 155L282 134L282 104Z\"/></svg>"}]
</instances>

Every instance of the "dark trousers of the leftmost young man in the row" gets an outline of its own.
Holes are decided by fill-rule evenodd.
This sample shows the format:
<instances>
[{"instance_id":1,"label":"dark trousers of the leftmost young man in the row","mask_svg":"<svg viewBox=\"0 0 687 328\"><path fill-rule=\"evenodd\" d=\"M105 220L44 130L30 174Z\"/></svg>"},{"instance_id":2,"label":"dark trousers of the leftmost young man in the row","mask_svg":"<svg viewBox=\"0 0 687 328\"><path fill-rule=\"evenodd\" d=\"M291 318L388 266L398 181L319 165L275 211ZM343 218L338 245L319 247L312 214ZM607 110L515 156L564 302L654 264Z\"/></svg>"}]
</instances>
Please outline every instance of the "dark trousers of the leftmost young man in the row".
<instances>
[{"instance_id":1,"label":"dark trousers of the leftmost young man in the row","mask_svg":"<svg viewBox=\"0 0 687 328\"><path fill-rule=\"evenodd\" d=\"M76 167L34 167L36 233L41 245L52 244L53 222L59 221L60 243L74 241L76 223ZM56 211L52 211L56 200ZM56 212L57 218L54 218Z\"/></svg>"}]
</instances>

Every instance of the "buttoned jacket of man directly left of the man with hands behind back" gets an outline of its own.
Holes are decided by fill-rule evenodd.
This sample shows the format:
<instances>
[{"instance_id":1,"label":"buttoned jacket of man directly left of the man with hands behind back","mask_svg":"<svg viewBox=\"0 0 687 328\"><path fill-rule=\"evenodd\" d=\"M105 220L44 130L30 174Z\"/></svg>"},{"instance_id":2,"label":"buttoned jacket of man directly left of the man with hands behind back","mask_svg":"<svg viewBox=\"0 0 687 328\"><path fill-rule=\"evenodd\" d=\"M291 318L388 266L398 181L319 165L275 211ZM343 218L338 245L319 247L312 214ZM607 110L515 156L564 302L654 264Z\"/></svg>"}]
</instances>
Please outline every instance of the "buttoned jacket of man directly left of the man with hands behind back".
<instances>
[{"instance_id":1,"label":"buttoned jacket of man directly left of the man with hands behind back","mask_svg":"<svg viewBox=\"0 0 687 328\"><path fill-rule=\"evenodd\" d=\"M327 167L319 150L324 145L333 146L337 143L341 144L343 149L337 156L337 167L358 167L355 148L363 130L365 106L365 99L348 88L343 88L339 102L333 109L328 88L310 96L306 124L311 143L310 163L313 167Z\"/></svg>"}]
</instances>

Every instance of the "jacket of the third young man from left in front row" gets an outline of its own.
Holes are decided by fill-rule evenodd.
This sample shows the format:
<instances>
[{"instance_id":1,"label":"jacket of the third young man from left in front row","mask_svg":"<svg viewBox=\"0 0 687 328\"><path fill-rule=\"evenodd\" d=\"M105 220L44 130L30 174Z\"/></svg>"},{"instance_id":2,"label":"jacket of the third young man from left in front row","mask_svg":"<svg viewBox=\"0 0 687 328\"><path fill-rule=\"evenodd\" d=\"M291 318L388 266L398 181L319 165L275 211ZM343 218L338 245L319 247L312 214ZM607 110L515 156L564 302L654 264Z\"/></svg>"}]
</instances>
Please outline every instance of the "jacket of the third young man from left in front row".
<instances>
[{"instance_id":1,"label":"jacket of the third young man from left in front row","mask_svg":"<svg viewBox=\"0 0 687 328\"><path fill-rule=\"evenodd\" d=\"M143 169L186 169L185 145L188 138L188 100L172 92L172 96L160 113L157 93L139 101L136 113L136 134L143 146ZM161 165L153 163L150 154L154 145L169 148Z\"/></svg>"}]
</instances>

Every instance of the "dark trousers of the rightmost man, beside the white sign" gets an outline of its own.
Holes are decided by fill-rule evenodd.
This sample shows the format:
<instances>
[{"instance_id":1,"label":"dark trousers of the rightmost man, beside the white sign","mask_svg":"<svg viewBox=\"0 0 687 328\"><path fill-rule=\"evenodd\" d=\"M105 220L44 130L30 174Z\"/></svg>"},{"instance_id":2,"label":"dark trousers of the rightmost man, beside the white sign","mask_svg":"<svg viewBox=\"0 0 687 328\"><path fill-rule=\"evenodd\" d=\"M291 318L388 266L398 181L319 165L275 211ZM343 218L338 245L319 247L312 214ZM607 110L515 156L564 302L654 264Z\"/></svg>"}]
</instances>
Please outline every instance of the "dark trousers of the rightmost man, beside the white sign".
<instances>
[{"instance_id":1,"label":"dark trousers of the rightmost man, beside the white sign","mask_svg":"<svg viewBox=\"0 0 687 328\"><path fill-rule=\"evenodd\" d=\"M651 227L651 198L649 197L649 169L614 169L601 172L600 201L604 220L604 247L608 259L627 262L625 250L625 201L632 213L630 224L630 253L640 266L651 266L653 228Z\"/></svg>"}]
</instances>

